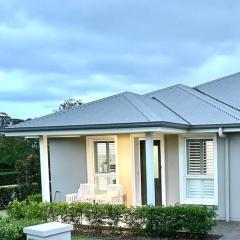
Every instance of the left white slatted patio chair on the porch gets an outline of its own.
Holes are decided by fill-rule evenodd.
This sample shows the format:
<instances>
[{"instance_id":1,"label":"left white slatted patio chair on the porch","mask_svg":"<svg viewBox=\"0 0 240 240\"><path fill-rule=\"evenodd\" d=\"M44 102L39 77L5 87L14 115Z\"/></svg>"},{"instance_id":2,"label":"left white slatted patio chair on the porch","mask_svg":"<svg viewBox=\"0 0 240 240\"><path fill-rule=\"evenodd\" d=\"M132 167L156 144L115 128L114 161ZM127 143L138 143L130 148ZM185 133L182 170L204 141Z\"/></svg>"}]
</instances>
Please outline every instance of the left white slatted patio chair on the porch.
<instances>
[{"instance_id":1,"label":"left white slatted patio chair on the porch","mask_svg":"<svg viewBox=\"0 0 240 240\"><path fill-rule=\"evenodd\" d=\"M77 193L67 194L66 202L90 202L93 203L95 199L95 184L84 183L80 184Z\"/></svg>"}]
</instances>

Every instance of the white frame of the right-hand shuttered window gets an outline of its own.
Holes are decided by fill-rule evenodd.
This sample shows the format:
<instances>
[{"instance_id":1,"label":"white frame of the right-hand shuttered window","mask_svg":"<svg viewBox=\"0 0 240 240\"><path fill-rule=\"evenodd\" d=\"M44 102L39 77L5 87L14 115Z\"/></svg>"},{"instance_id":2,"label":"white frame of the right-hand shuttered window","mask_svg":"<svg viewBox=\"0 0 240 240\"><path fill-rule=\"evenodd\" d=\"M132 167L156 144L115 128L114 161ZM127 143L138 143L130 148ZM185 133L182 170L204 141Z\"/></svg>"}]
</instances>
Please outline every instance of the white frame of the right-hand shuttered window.
<instances>
[{"instance_id":1,"label":"white frame of the right-hand shuttered window","mask_svg":"<svg viewBox=\"0 0 240 240\"><path fill-rule=\"evenodd\" d=\"M214 146L214 198L193 199L187 198L187 140L191 139L212 139ZM196 176L198 178L198 176ZM203 179L203 177L200 177ZM206 176L208 178L208 176ZM180 204L203 204L218 205L218 167L217 167L217 134L201 135L179 135L179 189Z\"/></svg>"}]
</instances>

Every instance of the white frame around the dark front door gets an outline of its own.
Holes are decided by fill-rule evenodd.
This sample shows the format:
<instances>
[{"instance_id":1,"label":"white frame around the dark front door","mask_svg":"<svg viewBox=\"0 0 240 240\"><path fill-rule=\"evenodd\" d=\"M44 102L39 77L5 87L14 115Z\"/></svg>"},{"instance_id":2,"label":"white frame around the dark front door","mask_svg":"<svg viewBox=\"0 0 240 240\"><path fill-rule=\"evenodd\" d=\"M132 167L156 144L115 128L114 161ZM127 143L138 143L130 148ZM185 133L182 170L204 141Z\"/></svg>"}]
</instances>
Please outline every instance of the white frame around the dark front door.
<instances>
[{"instance_id":1,"label":"white frame around the dark front door","mask_svg":"<svg viewBox=\"0 0 240 240\"><path fill-rule=\"evenodd\" d=\"M137 146L134 144L134 138L138 138ZM141 164L140 164L140 141L145 140L145 134L132 134L133 145L133 204L136 206L142 205L141 191ZM166 206L166 164L165 164L165 141L164 134L154 133L153 140L160 140L161 151L161 183L162 183L162 205ZM135 147L138 151L136 154Z\"/></svg>"}]
</instances>

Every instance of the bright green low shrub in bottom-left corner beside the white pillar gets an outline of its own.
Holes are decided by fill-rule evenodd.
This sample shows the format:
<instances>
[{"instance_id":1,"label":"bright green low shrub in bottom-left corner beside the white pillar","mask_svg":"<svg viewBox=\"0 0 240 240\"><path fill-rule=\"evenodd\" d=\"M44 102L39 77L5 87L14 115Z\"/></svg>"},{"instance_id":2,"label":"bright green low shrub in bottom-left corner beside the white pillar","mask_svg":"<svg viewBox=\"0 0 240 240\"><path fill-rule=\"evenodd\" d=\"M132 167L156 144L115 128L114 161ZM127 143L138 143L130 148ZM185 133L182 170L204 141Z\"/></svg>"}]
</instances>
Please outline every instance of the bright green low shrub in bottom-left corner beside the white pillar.
<instances>
[{"instance_id":1,"label":"bright green low shrub in bottom-left corner beside the white pillar","mask_svg":"<svg viewBox=\"0 0 240 240\"><path fill-rule=\"evenodd\" d=\"M0 239L1 240L20 240L23 237L23 228L43 223L41 220L29 219L0 219Z\"/></svg>"}]
</instances>

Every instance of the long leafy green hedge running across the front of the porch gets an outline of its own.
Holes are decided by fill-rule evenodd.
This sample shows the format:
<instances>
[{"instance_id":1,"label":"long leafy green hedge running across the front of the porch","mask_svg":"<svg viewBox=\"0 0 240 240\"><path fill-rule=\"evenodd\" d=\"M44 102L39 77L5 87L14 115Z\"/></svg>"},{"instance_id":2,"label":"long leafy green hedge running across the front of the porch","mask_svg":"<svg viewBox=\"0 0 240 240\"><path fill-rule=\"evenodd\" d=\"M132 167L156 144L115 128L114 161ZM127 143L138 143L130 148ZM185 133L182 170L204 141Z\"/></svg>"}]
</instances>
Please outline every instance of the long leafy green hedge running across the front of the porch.
<instances>
[{"instance_id":1,"label":"long leafy green hedge running across the front of the porch","mask_svg":"<svg viewBox=\"0 0 240 240\"><path fill-rule=\"evenodd\" d=\"M121 205L15 201L8 207L8 214L16 219L61 220L73 223L77 228L81 228L85 220L91 230L102 231L109 227L111 233L121 232L120 226L124 224L129 234L146 237L174 237L185 231L197 238L216 224L214 207L192 205L127 208Z\"/></svg>"}]
</instances>

